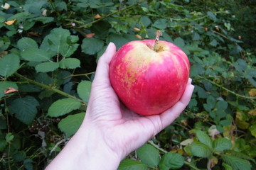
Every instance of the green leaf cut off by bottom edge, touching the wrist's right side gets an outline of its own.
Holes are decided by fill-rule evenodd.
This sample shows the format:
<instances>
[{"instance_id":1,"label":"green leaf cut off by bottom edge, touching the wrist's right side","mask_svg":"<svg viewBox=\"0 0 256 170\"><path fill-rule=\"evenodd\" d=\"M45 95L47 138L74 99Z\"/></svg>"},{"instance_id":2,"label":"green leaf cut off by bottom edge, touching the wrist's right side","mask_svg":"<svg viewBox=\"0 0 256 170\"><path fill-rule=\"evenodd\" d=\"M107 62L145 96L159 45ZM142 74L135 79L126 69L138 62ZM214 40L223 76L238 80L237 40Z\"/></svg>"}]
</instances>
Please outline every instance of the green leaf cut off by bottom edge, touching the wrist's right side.
<instances>
[{"instance_id":1,"label":"green leaf cut off by bottom edge, touching the wrist's right side","mask_svg":"<svg viewBox=\"0 0 256 170\"><path fill-rule=\"evenodd\" d=\"M146 164L132 159L124 159L117 170L148 170Z\"/></svg>"}]
</instances>

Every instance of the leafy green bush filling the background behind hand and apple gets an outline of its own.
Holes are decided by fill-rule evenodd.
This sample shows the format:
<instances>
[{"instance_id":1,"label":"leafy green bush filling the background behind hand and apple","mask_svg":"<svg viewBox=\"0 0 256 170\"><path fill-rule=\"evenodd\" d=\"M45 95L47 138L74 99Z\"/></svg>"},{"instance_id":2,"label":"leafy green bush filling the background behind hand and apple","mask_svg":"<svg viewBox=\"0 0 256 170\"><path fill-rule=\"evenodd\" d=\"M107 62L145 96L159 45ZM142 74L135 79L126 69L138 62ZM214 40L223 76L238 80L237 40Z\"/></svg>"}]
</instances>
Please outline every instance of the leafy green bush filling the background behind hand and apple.
<instances>
[{"instance_id":1,"label":"leafy green bush filling the background behind hand and apple","mask_svg":"<svg viewBox=\"0 0 256 170\"><path fill-rule=\"evenodd\" d=\"M0 169L43 169L78 130L107 44L119 48L156 30L186 52L196 89L176 123L119 169L255 169L253 2L1 4Z\"/></svg>"}]
</instances>

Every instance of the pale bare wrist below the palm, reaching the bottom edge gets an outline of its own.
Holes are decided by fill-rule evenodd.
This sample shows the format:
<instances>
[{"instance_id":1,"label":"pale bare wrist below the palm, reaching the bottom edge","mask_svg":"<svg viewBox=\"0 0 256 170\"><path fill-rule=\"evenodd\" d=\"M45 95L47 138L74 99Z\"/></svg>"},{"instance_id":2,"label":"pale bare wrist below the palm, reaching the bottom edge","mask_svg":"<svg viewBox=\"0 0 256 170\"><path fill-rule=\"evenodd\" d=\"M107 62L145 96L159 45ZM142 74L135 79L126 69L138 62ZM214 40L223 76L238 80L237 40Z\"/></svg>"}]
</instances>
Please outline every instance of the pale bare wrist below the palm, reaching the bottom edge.
<instances>
[{"instance_id":1,"label":"pale bare wrist below the palm, reaching the bottom edge","mask_svg":"<svg viewBox=\"0 0 256 170\"><path fill-rule=\"evenodd\" d=\"M46 170L117 169L121 158L100 137L95 127L81 126Z\"/></svg>"}]
</instances>

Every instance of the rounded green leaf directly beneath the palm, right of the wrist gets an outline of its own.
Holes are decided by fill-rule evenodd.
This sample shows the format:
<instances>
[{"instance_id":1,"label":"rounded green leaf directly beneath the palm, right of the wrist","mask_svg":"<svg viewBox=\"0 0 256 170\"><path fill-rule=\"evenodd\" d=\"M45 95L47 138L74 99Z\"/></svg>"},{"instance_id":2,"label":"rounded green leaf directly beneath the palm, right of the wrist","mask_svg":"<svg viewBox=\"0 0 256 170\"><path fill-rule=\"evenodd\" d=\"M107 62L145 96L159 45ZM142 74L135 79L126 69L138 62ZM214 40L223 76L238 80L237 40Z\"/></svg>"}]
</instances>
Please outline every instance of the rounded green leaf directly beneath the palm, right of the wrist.
<instances>
[{"instance_id":1,"label":"rounded green leaf directly beneath the palm, right of the wrist","mask_svg":"<svg viewBox=\"0 0 256 170\"><path fill-rule=\"evenodd\" d=\"M143 145L137 149L137 155L148 166L157 167L159 164L159 151L152 145Z\"/></svg>"}]
</instances>

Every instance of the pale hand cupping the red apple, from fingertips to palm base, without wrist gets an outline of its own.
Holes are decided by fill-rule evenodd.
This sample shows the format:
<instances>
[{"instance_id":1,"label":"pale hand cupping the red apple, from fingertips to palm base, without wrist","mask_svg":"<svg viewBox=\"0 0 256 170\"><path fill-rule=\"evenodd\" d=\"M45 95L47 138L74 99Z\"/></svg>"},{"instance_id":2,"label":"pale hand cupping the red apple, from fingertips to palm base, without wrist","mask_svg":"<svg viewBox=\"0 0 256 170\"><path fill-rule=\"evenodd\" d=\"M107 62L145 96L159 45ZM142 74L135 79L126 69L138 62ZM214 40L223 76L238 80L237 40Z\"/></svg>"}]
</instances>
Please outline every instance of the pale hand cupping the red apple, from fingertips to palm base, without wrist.
<instances>
[{"instance_id":1,"label":"pale hand cupping the red apple, from fingertips to palm base, without wrist","mask_svg":"<svg viewBox=\"0 0 256 170\"><path fill-rule=\"evenodd\" d=\"M105 144L123 159L180 115L188 105L194 87L189 79L181 100L168 111L160 115L138 115L119 102L110 84L109 65L115 52L116 47L110 43L100 57L84 124L99 128Z\"/></svg>"}]
</instances>

